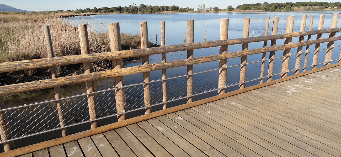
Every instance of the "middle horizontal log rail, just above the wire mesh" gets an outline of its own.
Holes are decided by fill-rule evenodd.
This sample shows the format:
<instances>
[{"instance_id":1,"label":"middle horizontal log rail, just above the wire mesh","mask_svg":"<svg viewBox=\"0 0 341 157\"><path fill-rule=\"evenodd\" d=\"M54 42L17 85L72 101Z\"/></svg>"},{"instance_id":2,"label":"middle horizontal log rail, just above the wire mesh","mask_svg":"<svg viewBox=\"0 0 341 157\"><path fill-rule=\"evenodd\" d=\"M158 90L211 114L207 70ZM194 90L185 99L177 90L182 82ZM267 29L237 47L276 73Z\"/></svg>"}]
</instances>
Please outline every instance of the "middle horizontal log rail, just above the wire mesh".
<instances>
[{"instance_id":1,"label":"middle horizontal log rail, just above the wire mesh","mask_svg":"<svg viewBox=\"0 0 341 157\"><path fill-rule=\"evenodd\" d=\"M125 75L143 73L143 72L154 71L154 70L162 70L162 69L167 69L167 68L175 68L175 67L199 64L199 63L205 63L205 62L212 62L212 61L220 60L220 59L228 59L228 58L240 57L243 55L252 55L252 54L258 54L258 53L264 53L264 52L270 52L270 51L278 51L278 50L290 49L290 48L295 48L295 47L300 47L300 46L307 46L307 45L312 45L316 43L330 42L330 41L336 41L336 40L341 40L341 36L318 39L318 40L311 40L311 41L305 41L305 42L298 42L298 43L291 43L287 45L279 45L279 46L273 46L273 47L258 48L258 49L237 51L237 52L224 53L224 54L216 54L216 55L210 55L210 56L174 60L170 62L134 66L134 67L128 67L128 68L122 68L122 69L92 72L88 74L51 78L47 80L32 81L32 82L27 82L27 83L5 85L5 86L0 86L0 95L14 94L14 93L26 92L26 91L32 91L32 90L40 90L40 89L45 89L45 88L53 88L57 86L64 86L64 85L83 83L83 82L88 82L88 81L101 80L101 79L110 78L110 77L125 76Z\"/></svg>"}]
</instances>

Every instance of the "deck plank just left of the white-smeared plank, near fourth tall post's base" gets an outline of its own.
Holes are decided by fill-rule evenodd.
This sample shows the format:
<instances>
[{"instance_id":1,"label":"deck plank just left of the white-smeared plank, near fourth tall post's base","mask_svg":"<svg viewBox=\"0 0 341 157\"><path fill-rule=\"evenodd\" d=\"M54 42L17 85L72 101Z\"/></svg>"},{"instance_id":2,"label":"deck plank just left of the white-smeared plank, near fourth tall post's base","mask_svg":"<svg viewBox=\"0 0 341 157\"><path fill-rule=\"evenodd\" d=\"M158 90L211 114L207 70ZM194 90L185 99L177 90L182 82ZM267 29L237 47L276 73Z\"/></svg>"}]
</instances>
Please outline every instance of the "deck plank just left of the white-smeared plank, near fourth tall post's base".
<instances>
[{"instance_id":1,"label":"deck plank just left of the white-smeared plank, near fourth tall post's base","mask_svg":"<svg viewBox=\"0 0 341 157\"><path fill-rule=\"evenodd\" d=\"M153 127L147 121L137 123L145 132L149 134L155 141L157 141L164 149L166 149L173 156L189 156L179 146L169 140L158 129Z\"/></svg>"}]
</instances>

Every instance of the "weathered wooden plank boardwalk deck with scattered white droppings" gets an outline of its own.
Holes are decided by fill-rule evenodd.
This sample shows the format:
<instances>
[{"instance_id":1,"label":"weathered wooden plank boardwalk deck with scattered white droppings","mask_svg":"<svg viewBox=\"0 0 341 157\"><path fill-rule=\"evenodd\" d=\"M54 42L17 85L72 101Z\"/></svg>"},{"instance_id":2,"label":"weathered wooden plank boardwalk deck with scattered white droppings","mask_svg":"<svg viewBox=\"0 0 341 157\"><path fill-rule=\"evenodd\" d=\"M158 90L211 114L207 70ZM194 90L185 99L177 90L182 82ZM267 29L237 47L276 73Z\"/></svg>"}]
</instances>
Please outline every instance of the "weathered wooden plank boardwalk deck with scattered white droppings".
<instances>
[{"instance_id":1,"label":"weathered wooden plank boardwalk deck with scattered white droppings","mask_svg":"<svg viewBox=\"0 0 341 157\"><path fill-rule=\"evenodd\" d=\"M338 66L24 156L340 157L340 88Z\"/></svg>"}]
</instances>

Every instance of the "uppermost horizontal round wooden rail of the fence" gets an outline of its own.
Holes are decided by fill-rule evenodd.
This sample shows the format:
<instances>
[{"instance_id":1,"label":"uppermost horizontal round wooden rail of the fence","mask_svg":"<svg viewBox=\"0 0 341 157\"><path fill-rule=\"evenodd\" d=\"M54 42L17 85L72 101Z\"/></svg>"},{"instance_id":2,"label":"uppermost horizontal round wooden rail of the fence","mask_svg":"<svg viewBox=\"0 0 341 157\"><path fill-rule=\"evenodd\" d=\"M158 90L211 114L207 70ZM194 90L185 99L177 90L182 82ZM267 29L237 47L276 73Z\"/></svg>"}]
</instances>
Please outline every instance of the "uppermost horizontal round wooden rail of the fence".
<instances>
[{"instance_id":1,"label":"uppermost horizontal round wooden rail of the fence","mask_svg":"<svg viewBox=\"0 0 341 157\"><path fill-rule=\"evenodd\" d=\"M287 34L279 34L279 35L268 35L268 36L257 36L257 37L248 37L248 38L238 38L238 39L187 43L187 44L181 44L181 45L153 47L153 48L146 48L146 49L122 50L122 51L114 51L114 52L91 53L91 54L85 54L85 55L72 55L72 56L62 56L62 57L54 57L54 58L22 60L22 61L16 61L16 62L5 62L5 63L0 63L0 73L18 71L18 70L36 69L36 68L46 68L46 67L52 67L52 66L95 62L95 61L100 61L100 60L111 60L111 59L120 59L120 58L137 57L137 56L145 56L145 55L154 55L154 54L161 54L161 53L168 53L168 52L177 52L177 51L186 51L186 50L202 49L202 48L210 48L210 47L218 47L218 46L226 46L226 45L235 45L235 44L249 43L249 42L284 39L284 38L289 38L289 37L298 37L298 36L305 36L305 35L340 32L340 31L341 31L341 28L334 28L334 29L295 32L295 33L287 33Z\"/></svg>"}]
</instances>

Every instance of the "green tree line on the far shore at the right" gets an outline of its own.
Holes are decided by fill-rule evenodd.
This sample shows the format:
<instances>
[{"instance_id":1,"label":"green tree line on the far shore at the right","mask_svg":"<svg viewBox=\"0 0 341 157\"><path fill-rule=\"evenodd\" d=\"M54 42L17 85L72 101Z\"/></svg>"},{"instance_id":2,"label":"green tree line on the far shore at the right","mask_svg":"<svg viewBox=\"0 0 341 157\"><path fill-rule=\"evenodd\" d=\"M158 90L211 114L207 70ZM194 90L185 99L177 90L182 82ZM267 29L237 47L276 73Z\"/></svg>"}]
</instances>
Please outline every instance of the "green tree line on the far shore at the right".
<instances>
[{"instance_id":1,"label":"green tree line on the far shore at the right","mask_svg":"<svg viewBox=\"0 0 341 157\"><path fill-rule=\"evenodd\" d=\"M341 7L340 2L286 2L286 3L254 3L254 4L243 4L238 5L236 9L240 10L264 10L264 11L275 11L275 10L291 10L291 7L301 6L319 6L321 8L334 8Z\"/></svg>"}]
</instances>

